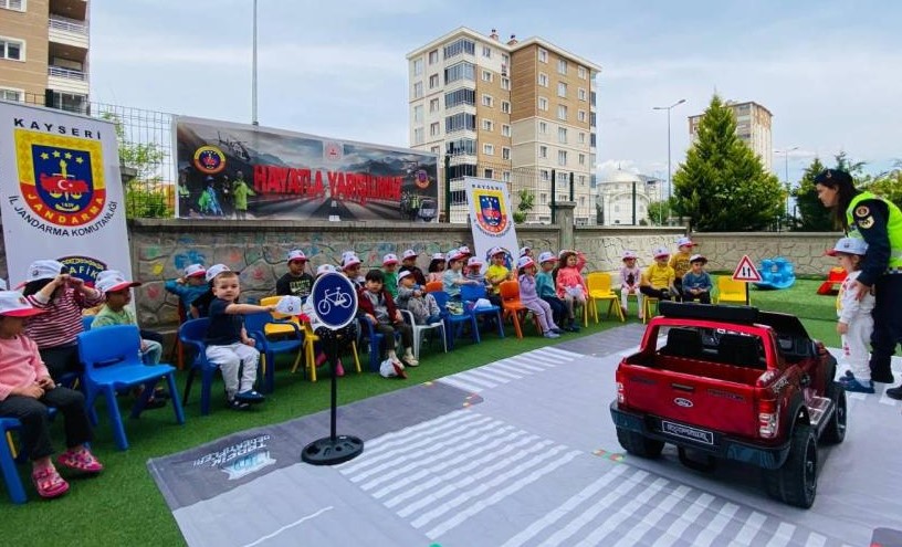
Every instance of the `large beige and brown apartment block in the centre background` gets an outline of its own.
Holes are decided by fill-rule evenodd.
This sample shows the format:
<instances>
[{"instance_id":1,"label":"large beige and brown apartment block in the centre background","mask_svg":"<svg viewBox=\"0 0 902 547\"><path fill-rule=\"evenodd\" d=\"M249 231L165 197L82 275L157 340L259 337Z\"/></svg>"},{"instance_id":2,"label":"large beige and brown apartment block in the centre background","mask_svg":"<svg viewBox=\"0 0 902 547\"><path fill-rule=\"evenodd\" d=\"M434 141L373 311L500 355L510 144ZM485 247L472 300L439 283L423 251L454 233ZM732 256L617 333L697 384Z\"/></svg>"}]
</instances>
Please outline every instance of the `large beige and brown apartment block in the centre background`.
<instances>
[{"instance_id":1,"label":"large beige and brown apartment block in the centre background","mask_svg":"<svg viewBox=\"0 0 902 547\"><path fill-rule=\"evenodd\" d=\"M410 145L450 155L451 221L465 220L463 187L453 182L464 176L511 182L514 201L522 189L533 192L527 222L548 222L550 203L570 199L573 177L576 222L595 223L600 66L541 38L502 42L494 30L486 36L466 28L407 61Z\"/></svg>"}]
</instances>

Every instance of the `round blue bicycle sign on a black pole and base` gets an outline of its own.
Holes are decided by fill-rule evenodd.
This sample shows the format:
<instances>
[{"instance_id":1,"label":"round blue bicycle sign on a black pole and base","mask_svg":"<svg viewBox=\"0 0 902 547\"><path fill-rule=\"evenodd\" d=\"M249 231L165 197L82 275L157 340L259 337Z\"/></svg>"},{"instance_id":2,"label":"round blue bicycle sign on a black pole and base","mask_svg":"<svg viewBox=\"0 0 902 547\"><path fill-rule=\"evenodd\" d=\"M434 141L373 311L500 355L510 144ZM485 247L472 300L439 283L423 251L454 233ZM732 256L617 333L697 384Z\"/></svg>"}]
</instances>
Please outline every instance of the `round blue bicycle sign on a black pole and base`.
<instances>
[{"instance_id":1,"label":"round blue bicycle sign on a black pole and base","mask_svg":"<svg viewBox=\"0 0 902 547\"><path fill-rule=\"evenodd\" d=\"M332 333L326 337L326 354L332 366L332 424L329 436L304 446L301 460L311 465L336 465L353 460L364 452L364 441L356 436L338 435L335 431L338 383L335 365L338 359L338 329L357 315L357 292L346 276L332 272L321 275L313 284L311 298L319 322ZM318 330L318 329L317 329Z\"/></svg>"}]
</instances>

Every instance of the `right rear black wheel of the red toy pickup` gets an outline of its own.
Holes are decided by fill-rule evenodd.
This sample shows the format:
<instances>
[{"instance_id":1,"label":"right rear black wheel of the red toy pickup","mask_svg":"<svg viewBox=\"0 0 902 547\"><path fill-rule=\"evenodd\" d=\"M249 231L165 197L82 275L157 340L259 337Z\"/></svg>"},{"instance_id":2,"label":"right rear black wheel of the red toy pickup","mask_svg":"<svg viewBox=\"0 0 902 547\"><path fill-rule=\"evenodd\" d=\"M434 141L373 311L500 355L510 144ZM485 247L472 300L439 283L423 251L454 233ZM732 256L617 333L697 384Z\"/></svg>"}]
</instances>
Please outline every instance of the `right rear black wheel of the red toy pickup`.
<instances>
[{"instance_id":1,"label":"right rear black wheel of the red toy pickup","mask_svg":"<svg viewBox=\"0 0 902 547\"><path fill-rule=\"evenodd\" d=\"M783 467L765 473L767 493L789 505L810 507L817 494L817 459L814 430L807 423L797 424Z\"/></svg>"}]
</instances>

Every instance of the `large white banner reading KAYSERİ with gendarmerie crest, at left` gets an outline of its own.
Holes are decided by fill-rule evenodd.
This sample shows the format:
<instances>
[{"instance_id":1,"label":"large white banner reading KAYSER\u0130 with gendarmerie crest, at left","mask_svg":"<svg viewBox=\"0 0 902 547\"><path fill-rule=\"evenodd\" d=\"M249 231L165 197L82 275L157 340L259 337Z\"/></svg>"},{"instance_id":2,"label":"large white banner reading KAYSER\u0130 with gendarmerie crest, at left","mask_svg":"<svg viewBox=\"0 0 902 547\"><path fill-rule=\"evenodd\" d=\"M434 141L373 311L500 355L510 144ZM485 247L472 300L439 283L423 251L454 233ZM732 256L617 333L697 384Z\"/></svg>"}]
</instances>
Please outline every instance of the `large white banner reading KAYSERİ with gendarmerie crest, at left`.
<instances>
[{"instance_id":1,"label":"large white banner reading KAYSER\u0130 with gendarmerie crest, at left","mask_svg":"<svg viewBox=\"0 0 902 547\"><path fill-rule=\"evenodd\" d=\"M132 278L113 123L0 102L0 212L10 286L41 259Z\"/></svg>"}]
</instances>

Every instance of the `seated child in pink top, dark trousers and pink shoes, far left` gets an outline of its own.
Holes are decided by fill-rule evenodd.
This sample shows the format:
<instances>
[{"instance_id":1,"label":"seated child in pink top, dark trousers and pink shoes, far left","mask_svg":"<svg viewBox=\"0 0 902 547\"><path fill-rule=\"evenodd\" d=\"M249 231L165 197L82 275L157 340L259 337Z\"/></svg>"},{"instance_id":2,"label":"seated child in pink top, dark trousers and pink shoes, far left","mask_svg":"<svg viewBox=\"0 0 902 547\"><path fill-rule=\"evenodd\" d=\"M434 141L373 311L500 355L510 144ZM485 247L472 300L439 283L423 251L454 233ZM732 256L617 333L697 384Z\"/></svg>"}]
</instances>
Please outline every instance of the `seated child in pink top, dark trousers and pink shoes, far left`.
<instances>
[{"instance_id":1,"label":"seated child in pink top, dark trousers and pink shoes, far left","mask_svg":"<svg viewBox=\"0 0 902 547\"><path fill-rule=\"evenodd\" d=\"M39 315L46 314L18 292L0 292L0 417L21 422L19 436L22 452L32 463L32 482L38 495L50 498L65 494L69 483L51 461L49 407L56 408L65 420L67 450L57 463L88 474L99 473L103 465L85 445L92 431L84 396L56 386L38 346L22 333L25 319Z\"/></svg>"}]
</instances>

